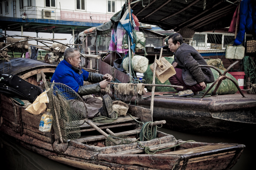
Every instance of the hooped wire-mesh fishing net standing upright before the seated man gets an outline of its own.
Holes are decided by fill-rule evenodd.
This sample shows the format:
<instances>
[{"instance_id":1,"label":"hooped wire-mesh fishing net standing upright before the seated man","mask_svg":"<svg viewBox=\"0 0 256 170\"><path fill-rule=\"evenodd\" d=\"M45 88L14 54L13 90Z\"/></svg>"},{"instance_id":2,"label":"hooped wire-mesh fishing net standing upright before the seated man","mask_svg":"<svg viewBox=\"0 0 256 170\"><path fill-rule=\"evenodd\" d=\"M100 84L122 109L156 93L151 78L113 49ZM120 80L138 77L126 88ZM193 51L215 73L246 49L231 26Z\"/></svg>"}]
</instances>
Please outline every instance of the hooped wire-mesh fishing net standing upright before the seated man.
<instances>
[{"instance_id":1,"label":"hooped wire-mesh fishing net standing upright before the seated man","mask_svg":"<svg viewBox=\"0 0 256 170\"><path fill-rule=\"evenodd\" d=\"M48 108L51 109L52 126L60 142L81 136L80 126L87 118L87 109L82 98L67 85L48 83L50 90Z\"/></svg>"}]
</instances>

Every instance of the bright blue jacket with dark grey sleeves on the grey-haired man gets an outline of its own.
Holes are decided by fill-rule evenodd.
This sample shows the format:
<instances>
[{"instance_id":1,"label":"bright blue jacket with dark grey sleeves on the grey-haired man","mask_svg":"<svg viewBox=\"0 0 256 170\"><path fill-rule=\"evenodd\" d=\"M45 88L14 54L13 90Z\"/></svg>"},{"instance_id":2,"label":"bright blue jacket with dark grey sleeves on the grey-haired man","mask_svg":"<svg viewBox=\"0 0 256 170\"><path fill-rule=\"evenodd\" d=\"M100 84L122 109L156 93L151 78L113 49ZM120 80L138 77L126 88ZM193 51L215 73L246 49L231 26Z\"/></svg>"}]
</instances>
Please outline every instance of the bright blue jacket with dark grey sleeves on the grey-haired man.
<instances>
[{"instance_id":1,"label":"bright blue jacket with dark grey sleeves on the grey-haired man","mask_svg":"<svg viewBox=\"0 0 256 170\"><path fill-rule=\"evenodd\" d=\"M78 69L77 69L78 70ZM89 73L86 70L82 69L82 74L79 75L79 71L74 70L72 65L69 64L66 60L63 60L59 63L55 72L52 76L51 82L62 83L70 88L72 88L75 92L78 92L79 86L84 85L84 81L89 82L100 82L102 81L103 75L97 73ZM93 94L95 92L100 92L100 83L96 83L93 85L86 85L88 88L88 94ZM86 94L84 94L86 95Z\"/></svg>"}]
</instances>

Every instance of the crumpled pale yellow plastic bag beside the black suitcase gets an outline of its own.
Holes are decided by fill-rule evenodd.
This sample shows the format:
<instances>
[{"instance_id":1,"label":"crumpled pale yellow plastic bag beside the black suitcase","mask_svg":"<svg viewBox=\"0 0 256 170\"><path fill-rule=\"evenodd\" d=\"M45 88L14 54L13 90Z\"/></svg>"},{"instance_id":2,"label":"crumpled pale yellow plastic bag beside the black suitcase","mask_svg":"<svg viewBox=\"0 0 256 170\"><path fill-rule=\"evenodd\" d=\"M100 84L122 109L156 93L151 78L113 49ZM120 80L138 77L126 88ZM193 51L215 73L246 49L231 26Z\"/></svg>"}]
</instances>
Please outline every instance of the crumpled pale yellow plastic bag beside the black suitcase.
<instances>
[{"instance_id":1,"label":"crumpled pale yellow plastic bag beside the black suitcase","mask_svg":"<svg viewBox=\"0 0 256 170\"><path fill-rule=\"evenodd\" d=\"M27 110L29 113L34 114L34 115L39 115L40 113L43 113L46 109L46 104L49 103L49 98L47 96L47 91L42 92L36 100L29 105L25 110Z\"/></svg>"}]
</instances>

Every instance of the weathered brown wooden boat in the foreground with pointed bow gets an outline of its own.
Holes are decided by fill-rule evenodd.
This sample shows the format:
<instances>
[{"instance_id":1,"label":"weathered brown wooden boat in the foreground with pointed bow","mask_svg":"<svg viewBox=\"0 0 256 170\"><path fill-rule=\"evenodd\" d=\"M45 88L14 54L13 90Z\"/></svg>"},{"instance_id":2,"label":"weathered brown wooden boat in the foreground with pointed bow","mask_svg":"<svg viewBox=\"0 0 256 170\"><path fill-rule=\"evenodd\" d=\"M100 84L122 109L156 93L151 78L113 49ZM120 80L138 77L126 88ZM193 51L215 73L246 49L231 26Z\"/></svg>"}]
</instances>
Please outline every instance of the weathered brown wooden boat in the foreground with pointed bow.
<instances>
[{"instance_id":1,"label":"weathered brown wooden boat in the foreground with pointed bow","mask_svg":"<svg viewBox=\"0 0 256 170\"><path fill-rule=\"evenodd\" d=\"M44 70L44 66L37 69ZM33 82L30 80L33 77L26 79ZM0 99L2 134L33 152L81 169L231 169L245 148L243 144L182 141L160 131L156 131L156 138L148 141L105 146L106 137L86 123L80 126L81 137L62 143L54 130L39 131L42 113L28 113L25 106L4 94L0 94ZM150 109L130 105L128 113L134 119L127 115L114 122L93 124L102 130L111 129L116 135L138 138L141 130L135 128L139 127L138 122L151 121ZM148 150L144 146L155 154L146 154Z\"/></svg>"}]
</instances>

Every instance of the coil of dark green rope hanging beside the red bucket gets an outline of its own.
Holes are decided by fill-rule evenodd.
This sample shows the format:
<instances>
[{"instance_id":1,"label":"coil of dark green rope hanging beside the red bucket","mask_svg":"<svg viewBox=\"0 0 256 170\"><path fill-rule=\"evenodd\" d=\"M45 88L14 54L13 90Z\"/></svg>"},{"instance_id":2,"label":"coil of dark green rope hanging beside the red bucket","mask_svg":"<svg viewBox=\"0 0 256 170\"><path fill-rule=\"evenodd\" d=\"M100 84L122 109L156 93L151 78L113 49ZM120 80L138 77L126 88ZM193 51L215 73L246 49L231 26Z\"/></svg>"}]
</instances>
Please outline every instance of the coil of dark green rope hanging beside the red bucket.
<instances>
[{"instance_id":1,"label":"coil of dark green rope hanging beside the red bucket","mask_svg":"<svg viewBox=\"0 0 256 170\"><path fill-rule=\"evenodd\" d=\"M244 57L244 73L246 77L250 77L250 83L256 84L256 66L250 56Z\"/></svg>"}]
</instances>

